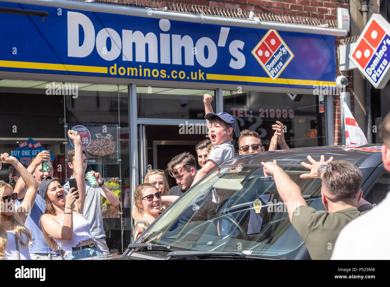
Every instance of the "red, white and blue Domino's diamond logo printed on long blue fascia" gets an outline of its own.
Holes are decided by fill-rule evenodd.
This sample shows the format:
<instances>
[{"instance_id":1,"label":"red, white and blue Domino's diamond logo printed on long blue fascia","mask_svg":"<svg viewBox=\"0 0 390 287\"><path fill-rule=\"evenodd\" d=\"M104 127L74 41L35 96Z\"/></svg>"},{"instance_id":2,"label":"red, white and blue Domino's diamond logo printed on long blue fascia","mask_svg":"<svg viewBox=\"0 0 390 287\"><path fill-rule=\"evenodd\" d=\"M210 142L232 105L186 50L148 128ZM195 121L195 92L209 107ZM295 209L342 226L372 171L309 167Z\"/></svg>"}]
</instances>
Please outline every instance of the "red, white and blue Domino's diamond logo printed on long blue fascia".
<instances>
[{"instance_id":1,"label":"red, white and blue Domino's diamond logo printed on long blue fascia","mask_svg":"<svg viewBox=\"0 0 390 287\"><path fill-rule=\"evenodd\" d=\"M294 57L276 30L268 30L252 50L252 55L272 80L279 77Z\"/></svg>"}]
</instances>

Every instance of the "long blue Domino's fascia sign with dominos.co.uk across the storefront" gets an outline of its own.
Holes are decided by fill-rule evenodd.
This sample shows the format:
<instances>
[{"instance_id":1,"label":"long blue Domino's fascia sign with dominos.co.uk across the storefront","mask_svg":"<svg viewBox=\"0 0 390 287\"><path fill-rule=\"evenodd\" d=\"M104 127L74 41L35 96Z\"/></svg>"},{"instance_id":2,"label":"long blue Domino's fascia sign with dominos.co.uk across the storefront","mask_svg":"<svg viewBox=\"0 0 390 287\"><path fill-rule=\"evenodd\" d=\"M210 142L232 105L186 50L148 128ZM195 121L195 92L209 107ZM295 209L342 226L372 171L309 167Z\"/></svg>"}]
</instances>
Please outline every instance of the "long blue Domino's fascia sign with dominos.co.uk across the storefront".
<instances>
[{"instance_id":1,"label":"long blue Domino's fascia sign with dominos.co.uk across the storefront","mask_svg":"<svg viewBox=\"0 0 390 287\"><path fill-rule=\"evenodd\" d=\"M0 2L0 70L182 82L335 84L335 37Z\"/></svg>"}]
</instances>

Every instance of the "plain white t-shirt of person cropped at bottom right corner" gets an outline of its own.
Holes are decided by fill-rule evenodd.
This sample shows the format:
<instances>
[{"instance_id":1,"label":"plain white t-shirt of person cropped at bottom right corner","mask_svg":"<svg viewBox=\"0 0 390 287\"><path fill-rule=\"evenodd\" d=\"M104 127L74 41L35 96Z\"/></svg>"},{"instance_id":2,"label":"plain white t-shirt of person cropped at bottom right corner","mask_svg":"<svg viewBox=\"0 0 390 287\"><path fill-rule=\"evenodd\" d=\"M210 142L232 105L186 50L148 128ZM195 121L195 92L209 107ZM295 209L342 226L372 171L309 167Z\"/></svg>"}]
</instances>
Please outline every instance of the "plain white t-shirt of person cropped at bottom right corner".
<instances>
[{"instance_id":1,"label":"plain white t-shirt of person cropped at bottom right corner","mask_svg":"<svg viewBox=\"0 0 390 287\"><path fill-rule=\"evenodd\" d=\"M331 260L388 260L390 192L377 207L353 219L340 232Z\"/></svg>"}]
</instances>

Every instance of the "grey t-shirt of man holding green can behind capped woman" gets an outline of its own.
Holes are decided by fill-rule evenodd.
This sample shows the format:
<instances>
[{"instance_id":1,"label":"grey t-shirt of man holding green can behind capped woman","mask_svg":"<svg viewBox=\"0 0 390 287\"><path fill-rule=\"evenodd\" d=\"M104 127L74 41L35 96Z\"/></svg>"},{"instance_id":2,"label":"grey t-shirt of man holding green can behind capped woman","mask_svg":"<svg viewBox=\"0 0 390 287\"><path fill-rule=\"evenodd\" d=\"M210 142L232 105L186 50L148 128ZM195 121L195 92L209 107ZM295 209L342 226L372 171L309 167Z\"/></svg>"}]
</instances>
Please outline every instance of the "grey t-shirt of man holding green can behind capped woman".
<instances>
[{"instance_id":1,"label":"grey t-shirt of man holding green can behind capped woman","mask_svg":"<svg viewBox=\"0 0 390 287\"><path fill-rule=\"evenodd\" d=\"M73 178L71 176L71 178ZM78 183L77 183L78 184ZM94 239L104 239L106 234L103 227L103 214L101 211L100 195L103 190L100 187L93 188L88 180L85 180L85 203L83 216L89 222L89 229ZM69 193L69 182L62 185L65 194Z\"/></svg>"}]
</instances>

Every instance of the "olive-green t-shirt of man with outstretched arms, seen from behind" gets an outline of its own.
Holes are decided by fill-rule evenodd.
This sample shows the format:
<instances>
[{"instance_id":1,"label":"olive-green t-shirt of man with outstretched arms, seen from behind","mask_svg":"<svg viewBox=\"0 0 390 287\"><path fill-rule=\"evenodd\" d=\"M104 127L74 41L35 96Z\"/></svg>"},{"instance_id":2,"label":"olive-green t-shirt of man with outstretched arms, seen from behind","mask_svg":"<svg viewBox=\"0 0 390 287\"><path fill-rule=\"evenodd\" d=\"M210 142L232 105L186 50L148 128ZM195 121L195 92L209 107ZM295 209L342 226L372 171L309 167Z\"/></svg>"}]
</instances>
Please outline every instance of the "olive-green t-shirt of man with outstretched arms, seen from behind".
<instances>
[{"instance_id":1,"label":"olive-green t-shirt of man with outstretched arms, seen from behind","mask_svg":"<svg viewBox=\"0 0 390 287\"><path fill-rule=\"evenodd\" d=\"M336 212L301 205L294 210L292 224L306 243L313 260L329 260L340 231L361 212L350 207Z\"/></svg>"}]
</instances>

